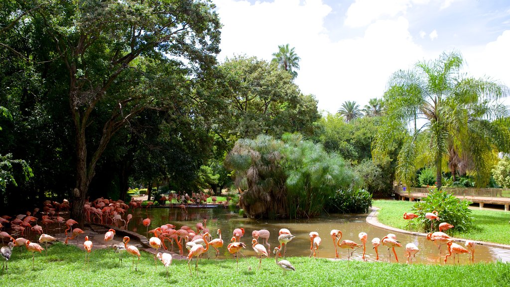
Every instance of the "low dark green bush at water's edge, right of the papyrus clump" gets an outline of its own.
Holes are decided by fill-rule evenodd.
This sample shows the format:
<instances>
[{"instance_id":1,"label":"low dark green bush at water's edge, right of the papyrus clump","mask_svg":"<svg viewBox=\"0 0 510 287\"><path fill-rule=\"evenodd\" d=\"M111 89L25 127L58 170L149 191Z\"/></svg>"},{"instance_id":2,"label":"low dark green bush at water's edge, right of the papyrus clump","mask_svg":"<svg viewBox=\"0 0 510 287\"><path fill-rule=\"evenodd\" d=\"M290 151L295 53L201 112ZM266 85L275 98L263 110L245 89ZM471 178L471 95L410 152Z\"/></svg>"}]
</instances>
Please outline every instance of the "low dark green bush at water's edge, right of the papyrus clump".
<instances>
[{"instance_id":1,"label":"low dark green bush at water's edge, right of the papyrus clump","mask_svg":"<svg viewBox=\"0 0 510 287\"><path fill-rule=\"evenodd\" d=\"M327 202L330 212L367 213L372 206L372 195L365 189L338 190Z\"/></svg>"}]
</instances>

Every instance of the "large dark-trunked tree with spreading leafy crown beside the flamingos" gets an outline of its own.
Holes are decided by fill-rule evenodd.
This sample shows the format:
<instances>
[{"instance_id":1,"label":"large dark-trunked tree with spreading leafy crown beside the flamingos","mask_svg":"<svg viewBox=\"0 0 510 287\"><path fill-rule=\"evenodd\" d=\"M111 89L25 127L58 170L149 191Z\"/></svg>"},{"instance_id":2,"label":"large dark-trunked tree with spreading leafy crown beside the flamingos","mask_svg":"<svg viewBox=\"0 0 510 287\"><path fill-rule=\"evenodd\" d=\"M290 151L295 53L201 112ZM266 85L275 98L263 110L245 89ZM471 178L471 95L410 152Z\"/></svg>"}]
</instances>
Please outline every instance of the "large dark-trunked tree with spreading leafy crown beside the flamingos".
<instances>
[{"instance_id":1,"label":"large dark-trunked tree with spreading leafy crown beside the flamingos","mask_svg":"<svg viewBox=\"0 0 510 287\"><path fill-rule=\"evenodd\" d=\"M171 87L173 79L160 73L159 65L172 69L184 65L184 59L187 80L200 79L202 71L215 64L219 52L219 19L209 1L16 3L13 13L20 17L2 32L23 33L23 23L39 23L36 27L41 30L32 33L51 41L46 58L55 59L57 68L66 71L61 81L66 82L74 126L77 177L71 217L81 221L96 164L112 136L144 109L171 105L160 98L164 89L160 84ZM2 53L32 60L0 44L6 47ZM89 140L90 125L101 126L97 140Z\"/></svg>"}]
</instances>

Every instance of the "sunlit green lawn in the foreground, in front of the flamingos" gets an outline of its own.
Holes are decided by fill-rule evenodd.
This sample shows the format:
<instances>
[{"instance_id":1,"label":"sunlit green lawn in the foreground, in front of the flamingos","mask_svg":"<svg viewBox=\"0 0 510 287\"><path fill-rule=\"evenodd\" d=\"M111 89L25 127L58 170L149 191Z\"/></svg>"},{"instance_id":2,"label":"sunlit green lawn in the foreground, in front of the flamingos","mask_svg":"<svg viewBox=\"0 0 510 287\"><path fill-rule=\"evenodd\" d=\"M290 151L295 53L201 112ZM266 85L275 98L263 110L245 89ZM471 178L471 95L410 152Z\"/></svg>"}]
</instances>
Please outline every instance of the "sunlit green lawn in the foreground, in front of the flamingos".
<instances>
[{"instance_id":1,"label":"sunlit green lawn in the foreground, in front of the flamingos","mask_svg":"<svg viewBox=\"0 0 510 287\"><path fill-rule=\"evenodd\" d=\"M276 266L274 258L239 259L236 272L234 259L201 259L199 274L194 266L190 277L186 260L173 260L169 277L154 257L142 252L138 271L130 271L132 259L119 265L118 254L111 249L95 250L88 266L85 252L73 246L57 243L47 254L37 253L35 268L32 254L16 247L9 261L9 275L0 279L1 286L508 286L510 264L501 262L474 265L404 265L385 262L331 261L308 257L287 258L296 268L287 272ZM225 247L220 249L221 252ZM213 255L213 252L211 252ZM248 271L247 264L251 266ZM193 261L194 265L194 261Z\"/></svg>"}]
</instances>

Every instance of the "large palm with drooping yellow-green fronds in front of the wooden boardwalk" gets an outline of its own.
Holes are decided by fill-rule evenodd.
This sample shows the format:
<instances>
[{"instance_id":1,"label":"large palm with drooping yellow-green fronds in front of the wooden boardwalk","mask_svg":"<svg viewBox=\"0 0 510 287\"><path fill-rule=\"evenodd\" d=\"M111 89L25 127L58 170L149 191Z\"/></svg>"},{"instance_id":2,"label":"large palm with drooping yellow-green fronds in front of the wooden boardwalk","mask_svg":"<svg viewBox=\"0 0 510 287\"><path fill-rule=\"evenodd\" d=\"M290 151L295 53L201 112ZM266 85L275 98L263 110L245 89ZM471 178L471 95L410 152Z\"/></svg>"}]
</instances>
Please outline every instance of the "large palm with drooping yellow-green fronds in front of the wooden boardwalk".
<instances>
[{"instance_id":1,"label":"large palm with drooping yellow-green fronds in front of the wooden boardwalk","mask_svg":"<svg viewBox=\"0 0 510 287\"><path fill-rule=\"evenodd\" d=\"M489 179L494 151L509 150L508 109L497 101L508 89L488 79L463 78L462 64L458 52L443 53L390 79L373 155L384 156L395 141L402 142L397 180L412 184L416 171L432 163L441 188L443 167L469 158L481 186ZM415 119L418 125L412 129Z\"/></svg>"}]
</instances>

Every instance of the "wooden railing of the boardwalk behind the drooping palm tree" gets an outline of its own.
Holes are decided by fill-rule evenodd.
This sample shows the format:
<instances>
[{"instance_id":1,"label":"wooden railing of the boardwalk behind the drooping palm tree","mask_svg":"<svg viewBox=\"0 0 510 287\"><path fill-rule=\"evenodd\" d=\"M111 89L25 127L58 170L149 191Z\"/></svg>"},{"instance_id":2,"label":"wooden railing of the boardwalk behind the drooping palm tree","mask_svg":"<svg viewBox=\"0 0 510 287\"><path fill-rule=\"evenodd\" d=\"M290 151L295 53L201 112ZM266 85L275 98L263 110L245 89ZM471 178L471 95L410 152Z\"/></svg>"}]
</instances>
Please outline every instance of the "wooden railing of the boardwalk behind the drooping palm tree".
<instances>
[{"instance_id":1,"label":"wooden railing of the boardwalk behind the drooping palm tree","mask_svg":"<svg viewBox=\"0 0 510 287\"><path fill-rule=\"evenodd\" d=\"M430 192L430 190L433 190L433 189L432 188L421 188L421 187L395 186L396 193L427 194ZM449 193L452 193L455 196L510 198L510 189L509 188L443 187L443 190L445 190Z\"/></svg>"}]
</instances>

